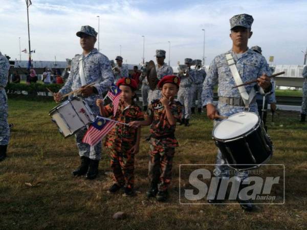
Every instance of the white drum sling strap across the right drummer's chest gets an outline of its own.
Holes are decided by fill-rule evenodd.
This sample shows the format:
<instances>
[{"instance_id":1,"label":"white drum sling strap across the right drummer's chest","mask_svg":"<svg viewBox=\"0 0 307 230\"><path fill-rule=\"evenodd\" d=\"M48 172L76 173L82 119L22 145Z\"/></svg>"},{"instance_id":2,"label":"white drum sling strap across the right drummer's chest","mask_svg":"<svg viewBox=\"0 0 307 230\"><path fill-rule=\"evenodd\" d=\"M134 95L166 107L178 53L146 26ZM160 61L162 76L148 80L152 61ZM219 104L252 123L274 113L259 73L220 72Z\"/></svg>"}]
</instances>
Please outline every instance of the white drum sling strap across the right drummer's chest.
<instances>
[{"instance_id":1,"label":"white drum sling strap across the right drummer's chest","mask_svg":"<svg viewBox=\"0 0 307 230\"><path fill-rule=\"evenodd\" d=\"M227 60L228 66L230 68L230 72L232 74L232 77L233 77L233 79L235 81L235 84L236 85L243 84L242 79L240 77L240 74L239 74L239 72L237 70L237 67L235 65L235 61L233 60L232 55L231 54L226 54L226 60ZM256 96L255 89L252 88L250 94L247 93L244 85L243 86L239 86L238 90L239 90L240 96L241 96L241 98L243 100L243 103L245 104L245 109L248 109L250 103L252 102L252 100Z\"/></svg>"}]
</instances>

